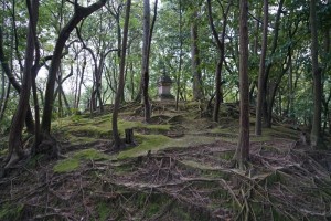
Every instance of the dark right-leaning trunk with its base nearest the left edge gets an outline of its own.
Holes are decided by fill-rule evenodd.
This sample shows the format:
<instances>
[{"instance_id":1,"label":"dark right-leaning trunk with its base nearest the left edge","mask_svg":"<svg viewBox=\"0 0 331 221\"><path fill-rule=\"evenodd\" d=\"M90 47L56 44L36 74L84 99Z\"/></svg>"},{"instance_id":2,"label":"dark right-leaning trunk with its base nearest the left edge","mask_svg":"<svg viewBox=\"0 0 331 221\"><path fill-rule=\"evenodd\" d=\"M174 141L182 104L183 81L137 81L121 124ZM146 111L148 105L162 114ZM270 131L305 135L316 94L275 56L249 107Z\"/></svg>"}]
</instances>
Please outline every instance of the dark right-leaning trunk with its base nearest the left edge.
<instances>
[{"instance_id":1,"label":"dark right-leaning trunk with its base nearest the left edge","mask_svg":"<svg viewBox=\"0 0 331 221\"><path fill-rule=\"evenodd\" d=\"M10 134L9 134L9 156L6 160L6 168L11 167L18 160L20 160L24 152L22 147L22 130L24 126L24 119L26 110L29 108L30 90L32 83L32 65L34 60L34 33L36 32L36 22L39 15L39 0L26 1L29 9L29 25L28 38L25 48L25 62L23 70L23 80L21 86L21 93L19 98L18 108L12 119Z\"/></svg>"}]
</instances>

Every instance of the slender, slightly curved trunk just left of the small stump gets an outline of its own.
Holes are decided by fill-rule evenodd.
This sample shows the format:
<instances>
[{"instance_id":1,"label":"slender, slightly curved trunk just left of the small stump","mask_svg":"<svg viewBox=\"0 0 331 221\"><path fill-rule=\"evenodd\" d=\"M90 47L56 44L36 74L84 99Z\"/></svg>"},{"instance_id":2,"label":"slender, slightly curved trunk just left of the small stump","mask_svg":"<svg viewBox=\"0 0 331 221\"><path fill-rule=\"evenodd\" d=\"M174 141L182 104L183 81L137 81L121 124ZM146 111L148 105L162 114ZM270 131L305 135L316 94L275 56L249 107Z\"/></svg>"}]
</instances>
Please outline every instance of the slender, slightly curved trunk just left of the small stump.
<instances>
[{"instance_id":1,"label":"slender, slightly curved trunk just left of the small stump","mask_svg":"<svg viewBox=\"0 0 331 221\"><path fill-rule=\"evenodd\" d=\"M114 147L115 149L119 150L122 146L120 140L120 136L118 133L118 110L120 105L120 96L122 96L121 91L124 91L125 86L125 67L126 67L126 55L127 55L127 42L128 42L128 31L129 31L129 20L130 20L130 8L131 8L131 0L127 0L127 8L126 8L126 19L125 19L125 27L124 27L124 36L122 36L122 44L121 44L121 57L120 57L120 70L119 70L119 80L118 80L118 87L115 97L114 110L113 110L113 138L114 138Z\"/></svg>"}]
</instances>

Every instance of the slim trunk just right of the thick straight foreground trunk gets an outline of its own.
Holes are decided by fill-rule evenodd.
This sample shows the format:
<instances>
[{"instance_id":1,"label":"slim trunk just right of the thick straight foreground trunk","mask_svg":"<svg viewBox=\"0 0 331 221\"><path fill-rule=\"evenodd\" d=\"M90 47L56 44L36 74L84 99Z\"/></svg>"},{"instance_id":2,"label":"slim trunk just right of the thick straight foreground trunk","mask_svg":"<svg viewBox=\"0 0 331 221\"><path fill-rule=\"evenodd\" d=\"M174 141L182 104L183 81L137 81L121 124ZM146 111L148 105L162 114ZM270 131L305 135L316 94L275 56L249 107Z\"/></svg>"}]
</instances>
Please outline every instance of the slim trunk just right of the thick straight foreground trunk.
<instances>
[{"instance_id":1,"label":"slim trunk just right of the thick straight foreground trunk","mask_svg":"<svg viewBox=\"0 0 331 221\"><path fill-rule=\"evenodd\" d=\"M264 80L266 71L266 54L268 44L268 12L269 6L268 0L264 0L264 31L263 31L263 45L261 54L259 60L259 71L258 71L258 91L257 91L257 105L256 105L256 125L255 134L261 135L261 120L263 120L263 97L265 96Z\"/></svg>"}]
</instances>

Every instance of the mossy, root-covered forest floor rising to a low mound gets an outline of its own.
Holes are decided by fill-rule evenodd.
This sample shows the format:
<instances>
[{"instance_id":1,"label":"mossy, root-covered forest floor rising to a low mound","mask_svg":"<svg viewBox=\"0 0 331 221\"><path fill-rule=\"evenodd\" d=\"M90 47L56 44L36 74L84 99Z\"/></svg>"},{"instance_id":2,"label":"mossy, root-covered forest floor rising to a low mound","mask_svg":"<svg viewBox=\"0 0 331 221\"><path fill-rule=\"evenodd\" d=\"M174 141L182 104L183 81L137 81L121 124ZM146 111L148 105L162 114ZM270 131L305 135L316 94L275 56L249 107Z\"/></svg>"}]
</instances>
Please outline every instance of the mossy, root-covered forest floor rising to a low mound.
<instances>
[{"instance_id":1,"label":"mossy, root-covered forest floor rising to a low mound","mask_svg":"<svg viewBox=\"0 0 331 221\"><path fill-rule=\"evenodd\" d=\"M152 124L142 123L139 105L127 104L119 129L134 128L137 146L120 152L111 149L107 108L53 123L64 159L38 156L9 169L0 178L0 220L331 219L331 151L301 144L290 125L256 137L252 117L250 162L242 171L232 162L235 104L222 104L220 124L200 103L175 110L154 102Z\"/></svg>"}]
</instances>

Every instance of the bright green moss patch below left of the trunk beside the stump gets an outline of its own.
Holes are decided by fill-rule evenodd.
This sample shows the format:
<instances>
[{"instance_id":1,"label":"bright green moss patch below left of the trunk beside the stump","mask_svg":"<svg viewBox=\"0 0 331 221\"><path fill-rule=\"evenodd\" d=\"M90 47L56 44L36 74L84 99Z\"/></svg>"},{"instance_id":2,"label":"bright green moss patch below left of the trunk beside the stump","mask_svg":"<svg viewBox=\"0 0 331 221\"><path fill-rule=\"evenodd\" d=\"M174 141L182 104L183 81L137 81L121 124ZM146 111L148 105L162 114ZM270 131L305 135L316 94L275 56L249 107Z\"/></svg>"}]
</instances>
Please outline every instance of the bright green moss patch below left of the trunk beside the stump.
<instances>
[{"instance_id":1,"label":"bright green moss patch below left of the trunk beside the stump","mask_svg":"<svg viewBox=\"0 0 331 221\"><path fill-rule=\"evenodd\" d=\"M76 170L81 161L84 160L106 160L109 156L96 149L84 149L76 151L71 158L58 161L54 167L54 172L71 172Z\"/></svg>"}]
</instances>

